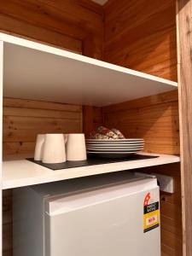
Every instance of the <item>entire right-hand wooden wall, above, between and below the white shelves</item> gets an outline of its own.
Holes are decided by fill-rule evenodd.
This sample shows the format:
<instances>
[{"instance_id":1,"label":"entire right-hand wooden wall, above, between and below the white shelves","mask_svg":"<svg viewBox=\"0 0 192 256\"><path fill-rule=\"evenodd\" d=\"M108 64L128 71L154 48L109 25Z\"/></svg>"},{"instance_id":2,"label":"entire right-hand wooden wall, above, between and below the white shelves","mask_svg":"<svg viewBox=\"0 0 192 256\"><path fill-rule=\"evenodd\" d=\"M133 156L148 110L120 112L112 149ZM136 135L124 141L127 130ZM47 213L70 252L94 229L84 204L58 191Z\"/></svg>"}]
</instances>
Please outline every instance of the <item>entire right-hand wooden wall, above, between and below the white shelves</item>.
<instances>
[{"instance_id":1,"label":"entire right-hand wooden wall, above, between and below the white shelves","mask_svg":"<svg viewBox=\"0 0 192 256\"><path fill-rule=\"evenodd\" d=\"M104 60L177 81L175 0L109 0L105 5ZM144 137L145 151L179 154L177 91L102 108L103 122L127 137ZM157 166L174 178L175 193L161 193L161 255L182 256L180 166Z\"/></svg>"}]
</instances>

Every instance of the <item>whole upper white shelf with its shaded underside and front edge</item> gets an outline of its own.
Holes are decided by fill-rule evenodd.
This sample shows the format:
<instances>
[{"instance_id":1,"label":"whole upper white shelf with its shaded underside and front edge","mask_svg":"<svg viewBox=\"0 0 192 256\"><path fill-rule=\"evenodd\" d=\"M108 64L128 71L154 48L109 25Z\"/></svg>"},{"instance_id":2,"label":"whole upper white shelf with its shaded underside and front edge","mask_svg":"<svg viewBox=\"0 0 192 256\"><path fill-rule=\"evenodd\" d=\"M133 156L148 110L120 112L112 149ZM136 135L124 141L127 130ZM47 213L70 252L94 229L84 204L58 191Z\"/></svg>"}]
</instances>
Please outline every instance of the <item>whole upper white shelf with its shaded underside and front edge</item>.
<instances>
[{"instance_id":1,"label":"whole upper white shelf with its shaded underside and front edge","mask_svg":"<svg viewBox=\"0 0 192 256\"><path fill-rule=\"evenodd\" d=\"M177 83L0 33L3 95L97 107L151 96Z\"/></svg>"}]
</instances>

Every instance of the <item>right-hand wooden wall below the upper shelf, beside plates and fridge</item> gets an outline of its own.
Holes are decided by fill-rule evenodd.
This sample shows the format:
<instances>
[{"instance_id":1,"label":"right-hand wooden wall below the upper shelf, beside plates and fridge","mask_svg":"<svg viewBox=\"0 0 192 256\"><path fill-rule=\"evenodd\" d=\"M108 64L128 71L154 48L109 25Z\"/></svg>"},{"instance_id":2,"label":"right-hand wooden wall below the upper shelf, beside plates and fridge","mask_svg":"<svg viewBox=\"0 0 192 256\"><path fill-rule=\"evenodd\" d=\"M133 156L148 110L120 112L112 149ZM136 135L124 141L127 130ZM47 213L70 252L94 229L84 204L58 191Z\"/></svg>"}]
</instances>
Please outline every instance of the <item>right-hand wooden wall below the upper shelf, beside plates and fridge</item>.
<instances>
[{"instance_id":1,"label":"right-hand wooden wall below the upper shelf, beside plates and fridge","mask_svg":"<svg viewBox=\"0 0 192 256\"><path fill-rule=\"evenodd\" d=\"M177 90L102 108L103 122L126 137L143 137L145 151L179 154ZM183 228L180 165L155 166L138 172L172 176L173 195L160 193L161 255L182 256Z\"/></svg>"}]
</instances>

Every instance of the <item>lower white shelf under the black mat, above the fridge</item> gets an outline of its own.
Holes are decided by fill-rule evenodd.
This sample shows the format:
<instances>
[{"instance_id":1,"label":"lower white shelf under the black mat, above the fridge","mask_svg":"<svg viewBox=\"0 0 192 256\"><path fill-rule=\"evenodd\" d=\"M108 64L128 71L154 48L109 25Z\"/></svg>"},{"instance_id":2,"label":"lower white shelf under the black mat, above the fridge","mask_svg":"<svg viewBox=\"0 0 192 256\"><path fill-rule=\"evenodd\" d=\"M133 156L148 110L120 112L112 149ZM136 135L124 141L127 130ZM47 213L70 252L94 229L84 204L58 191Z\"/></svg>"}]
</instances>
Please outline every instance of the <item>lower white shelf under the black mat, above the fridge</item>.
<instances>
[{"instance_id":1,"label":"lower white shelf under the black mat, above the fridge","mask_svg":"<svg viewBox=\"0 0 192 256\"><path fill-rule=\"evenodd\" d=\"M144 154L144 153L142 153ZM145 153L146 154L146 153ZM83 166L59 171L52 171L28 160L11 160L3 162L3 189L12 189L39 183L55 182L75 177L132 170L148 166L160 166L179 162L180 158L169 154L158 155L158 158L147 160L132 160L96 166Z\"/></svg>"}]
</instances>

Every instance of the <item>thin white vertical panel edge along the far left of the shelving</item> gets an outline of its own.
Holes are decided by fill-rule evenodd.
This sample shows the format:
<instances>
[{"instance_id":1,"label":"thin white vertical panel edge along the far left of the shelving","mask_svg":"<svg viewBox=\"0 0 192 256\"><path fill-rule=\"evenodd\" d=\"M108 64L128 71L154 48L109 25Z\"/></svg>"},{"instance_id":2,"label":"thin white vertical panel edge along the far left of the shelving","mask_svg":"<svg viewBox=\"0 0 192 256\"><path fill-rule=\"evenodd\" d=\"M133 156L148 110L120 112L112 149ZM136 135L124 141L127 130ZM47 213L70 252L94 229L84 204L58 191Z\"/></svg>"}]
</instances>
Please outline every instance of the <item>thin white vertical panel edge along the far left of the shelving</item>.
<instances>
[{"instance_id":1,"label":"thin white vertical panel edge along the far left of the shelving","mask_svg":"<svg viewBox=\"0 0 192 256\"><path fill-rule=\"evenodd\" d=\"M3 152L3 41L0 41L0 256L3 253L2 152Z\"/></svg>"}]
</instances>

